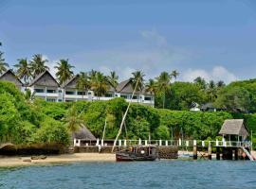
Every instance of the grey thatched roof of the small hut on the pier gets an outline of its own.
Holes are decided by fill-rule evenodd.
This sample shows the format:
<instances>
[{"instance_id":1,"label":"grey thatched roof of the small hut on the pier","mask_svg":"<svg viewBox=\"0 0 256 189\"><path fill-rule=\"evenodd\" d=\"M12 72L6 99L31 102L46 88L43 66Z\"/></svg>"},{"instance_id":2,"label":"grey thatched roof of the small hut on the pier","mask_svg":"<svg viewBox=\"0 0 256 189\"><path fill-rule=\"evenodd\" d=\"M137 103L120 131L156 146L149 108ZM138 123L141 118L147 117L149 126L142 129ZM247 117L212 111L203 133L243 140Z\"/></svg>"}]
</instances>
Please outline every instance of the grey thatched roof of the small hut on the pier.
<instances>
[{"instance_id":1,"label":"grey thatched roof of the small hut on the pier","mask_svg":"<svg viewBox=\"0 0 256 189\"><path fill-rule=\"evenodd\" d=\"M244 119L227 119L225 120L219 134L248 136Z\"/></svg>"}]
</instances>

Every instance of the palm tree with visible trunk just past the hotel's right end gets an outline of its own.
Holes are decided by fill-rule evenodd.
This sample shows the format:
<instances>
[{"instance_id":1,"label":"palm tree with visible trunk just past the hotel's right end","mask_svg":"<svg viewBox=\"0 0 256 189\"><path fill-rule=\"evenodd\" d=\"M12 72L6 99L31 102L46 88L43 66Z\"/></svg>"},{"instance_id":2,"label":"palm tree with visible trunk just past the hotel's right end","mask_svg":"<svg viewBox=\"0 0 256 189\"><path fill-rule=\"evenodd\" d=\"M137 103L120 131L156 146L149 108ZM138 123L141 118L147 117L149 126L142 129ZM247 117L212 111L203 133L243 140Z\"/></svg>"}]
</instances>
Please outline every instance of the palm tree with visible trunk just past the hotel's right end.
<instances>
[{"instance_id":1,"label":"palm tree with visible trunk just past the hotel's right end","mask_svg":"<svg viewBox=\"0 0 256 189\"><path fill-rule=\"evenodd\" d=\"M159 77L156 77L157 91L163 94L163 109L165 107L165 95L170 90L172 77L167 72L162 72Z\"/></svg>"}]
</instances>

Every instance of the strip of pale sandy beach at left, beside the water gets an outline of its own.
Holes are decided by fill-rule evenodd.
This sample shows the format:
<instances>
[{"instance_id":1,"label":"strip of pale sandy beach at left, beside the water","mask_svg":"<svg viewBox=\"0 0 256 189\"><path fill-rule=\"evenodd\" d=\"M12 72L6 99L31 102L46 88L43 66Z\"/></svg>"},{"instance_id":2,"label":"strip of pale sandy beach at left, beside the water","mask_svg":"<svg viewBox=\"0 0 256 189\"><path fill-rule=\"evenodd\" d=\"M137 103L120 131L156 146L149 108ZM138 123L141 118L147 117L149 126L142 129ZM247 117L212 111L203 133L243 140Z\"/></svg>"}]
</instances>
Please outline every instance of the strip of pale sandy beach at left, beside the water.
<instances>
[{"instance_id":1,"label":"strip of pale sandy beach at left, beside the water","mask_svg":"<svg viewBox=\"0 0 256 189\"><path fill-rule=\"evenodd\" d=\"M72 162L115 162L115 154L75 153L58 156L47 156L45 160L30 160L30 157L3 157L0 158L0 167L23 166L46 163L72 163Z\"/></svg>"}]
</instances>

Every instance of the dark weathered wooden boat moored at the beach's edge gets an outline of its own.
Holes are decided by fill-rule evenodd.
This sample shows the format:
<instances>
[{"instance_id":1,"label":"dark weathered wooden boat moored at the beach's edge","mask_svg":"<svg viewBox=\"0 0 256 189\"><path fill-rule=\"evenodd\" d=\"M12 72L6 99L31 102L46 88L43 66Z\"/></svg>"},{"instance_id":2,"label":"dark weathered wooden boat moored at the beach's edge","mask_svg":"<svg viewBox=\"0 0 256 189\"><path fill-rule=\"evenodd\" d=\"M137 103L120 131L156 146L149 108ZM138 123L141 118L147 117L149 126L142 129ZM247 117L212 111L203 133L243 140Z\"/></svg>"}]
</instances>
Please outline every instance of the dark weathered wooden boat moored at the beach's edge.
<instances>
[{"instance_id":1,"label":"dark weathered wooden boat moored at the beach's edge","mask_svg":"<svg viewBox=\"0 0 256 189\"><path fill-rule=\"evenodd\" d=\"M130 146L116 152L116 160L122 161L155 161L158 158L156 146Z\"/></svg>"}]
</instances>

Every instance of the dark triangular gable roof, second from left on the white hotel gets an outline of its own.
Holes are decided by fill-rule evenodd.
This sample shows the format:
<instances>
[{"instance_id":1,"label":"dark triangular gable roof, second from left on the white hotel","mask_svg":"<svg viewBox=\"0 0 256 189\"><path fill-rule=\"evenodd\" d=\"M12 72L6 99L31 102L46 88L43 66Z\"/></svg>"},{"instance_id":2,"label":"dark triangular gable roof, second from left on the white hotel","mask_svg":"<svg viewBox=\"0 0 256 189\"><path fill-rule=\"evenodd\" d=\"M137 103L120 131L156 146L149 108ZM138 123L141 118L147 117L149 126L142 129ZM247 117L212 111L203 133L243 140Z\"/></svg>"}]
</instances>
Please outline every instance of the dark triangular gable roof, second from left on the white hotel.
<instances>
[{"instance_id":1,"label":"dark triangular gable roof, second from left on the white hotel","mask_svg":"<svg viewBox=\"0 0 256 189\"><path fill-rule=\"evenodd\" d=\"M35 77L33 80L31 80L28 86L30 87L32 85L60 87L60 84L57 82L57 80L54 77L52 77L47 70L38 75L37 77Z\"/></svg>"}]
</instances>

